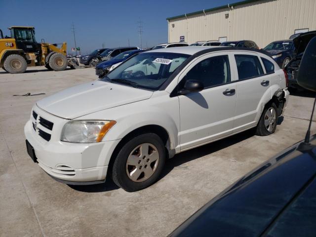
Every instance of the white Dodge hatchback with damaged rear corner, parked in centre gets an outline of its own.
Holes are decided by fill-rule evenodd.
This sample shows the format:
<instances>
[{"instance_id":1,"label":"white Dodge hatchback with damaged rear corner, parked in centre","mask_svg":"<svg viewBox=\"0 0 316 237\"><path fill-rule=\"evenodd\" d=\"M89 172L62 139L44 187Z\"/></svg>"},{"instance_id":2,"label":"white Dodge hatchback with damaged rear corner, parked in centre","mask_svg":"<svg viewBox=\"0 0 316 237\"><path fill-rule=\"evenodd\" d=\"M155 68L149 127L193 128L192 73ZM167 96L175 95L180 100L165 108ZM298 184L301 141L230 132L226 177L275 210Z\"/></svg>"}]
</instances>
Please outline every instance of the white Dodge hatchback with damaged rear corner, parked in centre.
<instances>
[{"instance_id":1,"label":"white Dodge hatchback with damaged rear corner, parked in centre","mask_svg":"<svg viewBox=\"0 0 316 237\"><path fill-rule=\"evenodd\" d=\"M288 98L284 71L264 52L163 48L38 101L24 132L29 155L56 180L112 177L132 192L175 154L250 128L275 132Z\"/></svg>"}]
</instances>

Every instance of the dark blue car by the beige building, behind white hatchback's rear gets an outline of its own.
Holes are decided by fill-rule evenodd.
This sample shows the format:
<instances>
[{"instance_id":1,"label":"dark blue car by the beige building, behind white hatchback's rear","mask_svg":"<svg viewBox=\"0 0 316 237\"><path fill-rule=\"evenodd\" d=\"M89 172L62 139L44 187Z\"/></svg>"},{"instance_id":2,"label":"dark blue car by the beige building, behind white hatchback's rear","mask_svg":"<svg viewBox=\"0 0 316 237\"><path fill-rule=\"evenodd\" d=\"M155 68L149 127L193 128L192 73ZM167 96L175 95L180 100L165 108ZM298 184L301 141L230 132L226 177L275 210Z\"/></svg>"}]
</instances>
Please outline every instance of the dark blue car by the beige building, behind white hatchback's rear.
<instances>
[{"instance_id":1,"label":"dark blue car by the beige building, behind white hatchback's rear","mask_svg":"<svg viewBox=\"0 0 316 237\"><path fill-rule=\"evenodd\" d=\"M284 68L295 57L293 40L278 40L269 43L263 50L271 54L280 68Z\"/></svg>"}]
</instances>

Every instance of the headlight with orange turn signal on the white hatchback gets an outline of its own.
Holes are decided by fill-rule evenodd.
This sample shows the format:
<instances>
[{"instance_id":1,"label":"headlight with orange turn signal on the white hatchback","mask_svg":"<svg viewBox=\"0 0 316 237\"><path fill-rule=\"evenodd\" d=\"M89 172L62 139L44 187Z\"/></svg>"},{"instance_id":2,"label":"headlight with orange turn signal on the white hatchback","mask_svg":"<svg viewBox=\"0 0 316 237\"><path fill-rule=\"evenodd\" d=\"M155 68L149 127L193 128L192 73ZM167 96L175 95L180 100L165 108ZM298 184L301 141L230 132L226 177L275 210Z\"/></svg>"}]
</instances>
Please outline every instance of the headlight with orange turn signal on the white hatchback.
<instances>
[{"instance_id":1,"label":"headlight with orange turn signal on the white hatchback","mask_svg":"<svg viewBox=\"0 0 316 237\"><path fill-rule=\"evenodd\" d=\"M61 140L73 143L101 142L105 134L116 123L115 120L72 120L64 125Z\"/></svg>"}]
</instances>

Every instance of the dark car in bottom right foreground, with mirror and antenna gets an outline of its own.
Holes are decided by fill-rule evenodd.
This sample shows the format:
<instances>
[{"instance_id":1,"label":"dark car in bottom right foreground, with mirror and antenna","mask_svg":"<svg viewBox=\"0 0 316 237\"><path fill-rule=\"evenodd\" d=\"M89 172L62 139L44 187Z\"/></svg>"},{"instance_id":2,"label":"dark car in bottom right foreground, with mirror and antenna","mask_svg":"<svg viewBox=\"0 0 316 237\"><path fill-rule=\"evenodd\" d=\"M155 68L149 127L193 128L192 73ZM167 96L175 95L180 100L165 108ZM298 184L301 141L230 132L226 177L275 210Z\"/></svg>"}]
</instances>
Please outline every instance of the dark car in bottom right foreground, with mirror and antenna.
<instances>
[{"instance_id":1,"label":"dark car in bottom right foreground, with mirror and antenna","mask_svg":"<svg viewBox=\"0 0 316 237\"><path fill-rule=\"evenodd\" d=\"M316 91L316 37L303 55L298 83ZM315 237L316 135L246 174L213 198L170 237Z\"/></svg>"}]
</instances>

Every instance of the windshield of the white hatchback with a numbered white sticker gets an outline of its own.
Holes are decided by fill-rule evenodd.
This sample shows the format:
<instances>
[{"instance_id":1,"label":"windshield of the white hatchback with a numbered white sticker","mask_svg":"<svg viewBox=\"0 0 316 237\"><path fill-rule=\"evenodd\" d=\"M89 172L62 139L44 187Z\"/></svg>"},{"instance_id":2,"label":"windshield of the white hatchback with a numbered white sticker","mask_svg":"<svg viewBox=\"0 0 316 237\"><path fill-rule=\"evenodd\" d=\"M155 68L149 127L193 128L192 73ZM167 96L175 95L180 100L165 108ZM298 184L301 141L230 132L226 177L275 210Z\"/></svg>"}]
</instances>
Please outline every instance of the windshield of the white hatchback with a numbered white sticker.
<instances>
[{"instance_id":1,"label":"windshield of the white hatchback with a numbered white sticker","mask_svg":"<svg viewBox=\"0 0 316 237\"><path fill-rule=\"evenodd\" d=\"M102 78L120 84L157 90L190 55L180 53L140 53Z\"/></svg>"}]
</instances>

